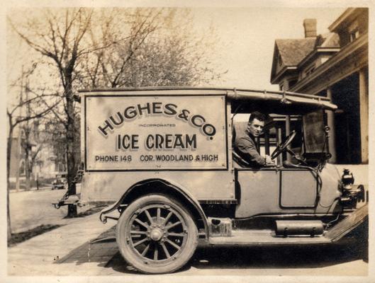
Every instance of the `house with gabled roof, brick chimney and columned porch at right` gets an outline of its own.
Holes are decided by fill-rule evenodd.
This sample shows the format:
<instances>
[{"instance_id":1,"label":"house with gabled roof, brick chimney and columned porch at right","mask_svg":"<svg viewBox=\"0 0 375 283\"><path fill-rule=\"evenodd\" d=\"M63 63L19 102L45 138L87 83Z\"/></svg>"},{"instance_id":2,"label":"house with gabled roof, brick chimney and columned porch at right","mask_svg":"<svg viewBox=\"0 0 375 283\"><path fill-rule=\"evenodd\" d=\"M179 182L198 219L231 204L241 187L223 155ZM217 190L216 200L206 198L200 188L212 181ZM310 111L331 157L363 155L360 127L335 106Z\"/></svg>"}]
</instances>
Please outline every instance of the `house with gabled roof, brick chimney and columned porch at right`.
<instances>
[{"instance_id":1,"label":"house with gabled roof, brick chimney and columned porch at right","mask_svg":"<svg viewBox=\"0 0 375 283\"><path fill-rule=\"evenodd\" d=\"M316 20L303 21L305 37L275 40L271 83L280 90L328 96L330 162L368 163L368 8L347 8L318 35Z\"/></svg>"}]
</instances>

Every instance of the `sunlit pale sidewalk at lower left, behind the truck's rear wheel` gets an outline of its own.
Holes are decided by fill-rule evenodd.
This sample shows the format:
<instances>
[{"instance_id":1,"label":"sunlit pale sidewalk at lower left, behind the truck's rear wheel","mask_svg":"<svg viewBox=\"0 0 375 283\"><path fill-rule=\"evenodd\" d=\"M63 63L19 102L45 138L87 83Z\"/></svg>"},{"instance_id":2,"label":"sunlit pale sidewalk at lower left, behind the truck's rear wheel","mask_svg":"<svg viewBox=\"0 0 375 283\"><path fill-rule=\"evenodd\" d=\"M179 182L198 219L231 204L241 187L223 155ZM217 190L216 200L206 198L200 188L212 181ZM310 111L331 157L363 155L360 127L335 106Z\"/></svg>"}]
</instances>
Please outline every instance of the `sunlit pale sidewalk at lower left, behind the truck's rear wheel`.
<instances>
[{"instance_id":1,"label":"sunlit pale sidewalk at lower left, behind the truck's rear wheel","mask_svg":"<svg viewBox=\"0 0 375 283\"><path fill-rule=\"evenodd\" d=\"M8 275L77 275L74 270L79 270L79 265L73 262L57 265L55 262L111 229L114 224L116 224L114 221L102 224L99 221L99 213L96 213L73 219L71 224L8 248ZM92 265L95 267L97 262L92 262Z\"/></svg>"}]
</instances>

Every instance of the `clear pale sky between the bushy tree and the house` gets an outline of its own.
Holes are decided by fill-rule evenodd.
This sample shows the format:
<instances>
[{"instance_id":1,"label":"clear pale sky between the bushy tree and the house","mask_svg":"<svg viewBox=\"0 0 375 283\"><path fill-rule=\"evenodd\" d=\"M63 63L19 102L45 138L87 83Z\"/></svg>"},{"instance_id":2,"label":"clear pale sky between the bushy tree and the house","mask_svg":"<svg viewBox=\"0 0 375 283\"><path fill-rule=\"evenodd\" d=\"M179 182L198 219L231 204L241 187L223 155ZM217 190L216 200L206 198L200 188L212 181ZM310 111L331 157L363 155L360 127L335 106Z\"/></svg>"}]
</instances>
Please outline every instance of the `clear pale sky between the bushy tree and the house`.
<instances>
[{"instance_id":1,"label":"clear pale sky between the bushy tree and the house","mask_svg":"<svg viewBox=\"0 0 375 283\"><path fill-rule=\"evenodd\" d=\"M215 86L278 90L269 82L274 40L303 38L303 19L316 18L318 34L328 33L345 8L194 8L196 28L216 28L220 45L212 62L228 73ZM204 30L204 29L203 29Z\"/></svg>"}]
</instances>

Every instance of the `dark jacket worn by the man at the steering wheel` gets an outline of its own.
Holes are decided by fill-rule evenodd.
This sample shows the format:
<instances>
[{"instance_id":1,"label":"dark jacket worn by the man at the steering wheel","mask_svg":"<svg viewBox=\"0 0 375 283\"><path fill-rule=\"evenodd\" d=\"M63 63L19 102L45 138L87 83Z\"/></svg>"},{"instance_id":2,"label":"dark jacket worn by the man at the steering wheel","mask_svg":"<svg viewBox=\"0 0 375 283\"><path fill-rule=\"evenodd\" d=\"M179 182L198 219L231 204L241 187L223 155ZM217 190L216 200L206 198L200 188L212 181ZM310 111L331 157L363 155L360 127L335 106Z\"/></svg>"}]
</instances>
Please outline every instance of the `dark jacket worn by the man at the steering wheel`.
<instances>
[{"instance_id":1,"label":"dark jacket worn by the man at the steering wheel","mask_svg":"<svg viewBox=\"0 0 375 283\"><path fill-rule=\"evenodd\" d=\"M259 148L255 142L255 138L249 133L245 132L235 137L235 152L247 161L250 166L264 166L266 165L266 158L259 154Z\"/></svg>"}]
</instances>

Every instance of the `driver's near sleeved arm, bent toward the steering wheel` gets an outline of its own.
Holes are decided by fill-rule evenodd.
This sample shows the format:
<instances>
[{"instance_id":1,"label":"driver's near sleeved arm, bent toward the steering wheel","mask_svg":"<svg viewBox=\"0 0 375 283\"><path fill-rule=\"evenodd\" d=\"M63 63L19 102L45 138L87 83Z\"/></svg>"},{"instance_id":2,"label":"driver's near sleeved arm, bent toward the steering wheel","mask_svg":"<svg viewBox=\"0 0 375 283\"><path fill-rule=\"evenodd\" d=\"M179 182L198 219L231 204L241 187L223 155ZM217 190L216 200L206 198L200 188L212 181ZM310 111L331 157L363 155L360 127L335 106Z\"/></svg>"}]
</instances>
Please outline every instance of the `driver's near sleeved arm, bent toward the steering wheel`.
<instances>
[{"instance_id":1,"label":"driver's near sleeved arm, bent toward the steering wheel","mask_svg":"<svg viewBox=\"0 0 375 283\"><path fill-rule=\"evenodd\" d=\"M257 151L254 141L250 137L240 137L235 141L235 151L245 161L250 164L257 164L259 166L266 165L266 158L261 156Z\"/></svg>"}]
</instances>

